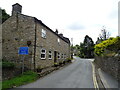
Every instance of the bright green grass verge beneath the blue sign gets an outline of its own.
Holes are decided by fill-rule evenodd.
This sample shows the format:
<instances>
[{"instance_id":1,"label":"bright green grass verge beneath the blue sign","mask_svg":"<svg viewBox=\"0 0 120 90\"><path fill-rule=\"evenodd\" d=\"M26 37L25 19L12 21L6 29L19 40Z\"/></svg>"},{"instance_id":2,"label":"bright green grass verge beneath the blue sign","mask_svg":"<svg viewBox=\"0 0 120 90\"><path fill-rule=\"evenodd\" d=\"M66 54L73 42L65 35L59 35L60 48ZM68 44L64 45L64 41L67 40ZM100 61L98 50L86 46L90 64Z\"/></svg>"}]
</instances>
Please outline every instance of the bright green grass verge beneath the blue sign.
<instances>
[{"instance_id":1,"label":"bright green grass verge beneath the blue sign","mask_svg":"<svg viewBox=\"0 0 120 90\"><path fill-rule=\"evenodd\" d=\"M10 80L6 80L2 82L2 89L12 88L13 86L20 86L26 83L30 83L35 81L38 78L36 72L27 71L23 73L23 75L19 75Z\"/></svg>"}]
</instances>

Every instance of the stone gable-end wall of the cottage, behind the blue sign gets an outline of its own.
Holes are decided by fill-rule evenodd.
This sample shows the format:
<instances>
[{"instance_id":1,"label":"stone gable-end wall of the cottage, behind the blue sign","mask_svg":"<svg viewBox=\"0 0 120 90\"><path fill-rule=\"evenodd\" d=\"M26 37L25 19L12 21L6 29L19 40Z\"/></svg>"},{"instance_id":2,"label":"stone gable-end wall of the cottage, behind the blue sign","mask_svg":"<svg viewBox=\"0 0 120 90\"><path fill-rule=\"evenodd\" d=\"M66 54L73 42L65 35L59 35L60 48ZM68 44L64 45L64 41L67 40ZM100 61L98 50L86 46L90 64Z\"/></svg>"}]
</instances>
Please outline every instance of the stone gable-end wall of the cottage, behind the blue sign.
<instances>
[{"instance_id":1,"label":"stone gable-end wall of the cottage, behind the blue sign","mask_svg":"<svg viewBox=\"0 0 120 90\"><path fill-rule=\"evenodd\" d=\"M22 14L14 14L2 25L2 58L15 63L22 63L19 47L27 47L31 41L29 55L25 56L25 66L33 68L35 23L34 19Z\"/></svg>"}]
</instances>

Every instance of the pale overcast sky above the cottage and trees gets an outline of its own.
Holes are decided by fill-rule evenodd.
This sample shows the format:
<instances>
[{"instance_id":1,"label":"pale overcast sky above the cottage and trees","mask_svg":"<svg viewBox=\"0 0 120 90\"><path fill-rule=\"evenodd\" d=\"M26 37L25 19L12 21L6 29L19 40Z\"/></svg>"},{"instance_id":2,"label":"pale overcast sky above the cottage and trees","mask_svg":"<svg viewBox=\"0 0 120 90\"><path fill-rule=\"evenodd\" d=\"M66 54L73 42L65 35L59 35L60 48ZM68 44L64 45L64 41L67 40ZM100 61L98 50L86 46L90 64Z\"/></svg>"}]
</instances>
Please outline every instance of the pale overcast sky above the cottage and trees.
<instances>
[{"instance_id":1,"label":"pale overcast sky above the cottage and trees","mask_svg":"<svg viewBox=\"0 0 120 90\"><path fill-rule=\"evenodd\" d=\"M0 0L0 7L11 15L12 5L22 5L22 14L41 20L53 31L58 29L73 45L86 35L94 42L103 26L111 37L118 36L119 0Z\"/></svg>"}]
</instances>

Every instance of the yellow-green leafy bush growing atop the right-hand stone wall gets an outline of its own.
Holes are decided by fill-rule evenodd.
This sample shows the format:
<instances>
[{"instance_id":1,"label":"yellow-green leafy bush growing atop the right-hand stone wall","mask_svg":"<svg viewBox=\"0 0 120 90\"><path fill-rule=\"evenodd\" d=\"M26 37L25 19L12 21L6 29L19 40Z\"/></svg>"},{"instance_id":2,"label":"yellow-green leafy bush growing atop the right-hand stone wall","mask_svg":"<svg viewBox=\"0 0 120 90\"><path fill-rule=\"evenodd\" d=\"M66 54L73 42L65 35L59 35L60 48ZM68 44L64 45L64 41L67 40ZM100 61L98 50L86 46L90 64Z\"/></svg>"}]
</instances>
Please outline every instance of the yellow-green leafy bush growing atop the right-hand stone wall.
<instances>
[{"instance_id":1,"label":"yellow-green leafy bush growing atop the right-hand stone wall","mask_svg":"<svg viewBox=\"0 0 120 90\"><path fill-rule=\"evenodd\" d=\"M103 55L105 50L118 52L120 50L120 37L109 38L108 40L102 41L102 43L96 44L94 48L97 56Z\"/></svg>"}]
</instances>

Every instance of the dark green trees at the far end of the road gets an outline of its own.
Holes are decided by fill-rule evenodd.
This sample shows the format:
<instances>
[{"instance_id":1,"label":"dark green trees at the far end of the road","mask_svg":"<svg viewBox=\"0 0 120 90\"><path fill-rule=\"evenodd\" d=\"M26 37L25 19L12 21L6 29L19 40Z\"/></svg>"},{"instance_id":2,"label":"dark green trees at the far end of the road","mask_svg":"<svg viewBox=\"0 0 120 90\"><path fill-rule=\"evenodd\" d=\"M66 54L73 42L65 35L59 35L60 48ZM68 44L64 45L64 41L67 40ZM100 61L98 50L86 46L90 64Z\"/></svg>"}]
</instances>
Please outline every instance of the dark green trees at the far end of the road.
<instances>
[{"instance_id":1,"label":"dark green trees at the far end of the road","mask_svg":"<svg viewBox=\"0 0 120 90\"><path fill-rule=\"evenodd\" d=\"M73 53L81 58L94 57L94 42L88 35L85 36L83 43L72 47Z\"/></svg>"}]
</instances>

